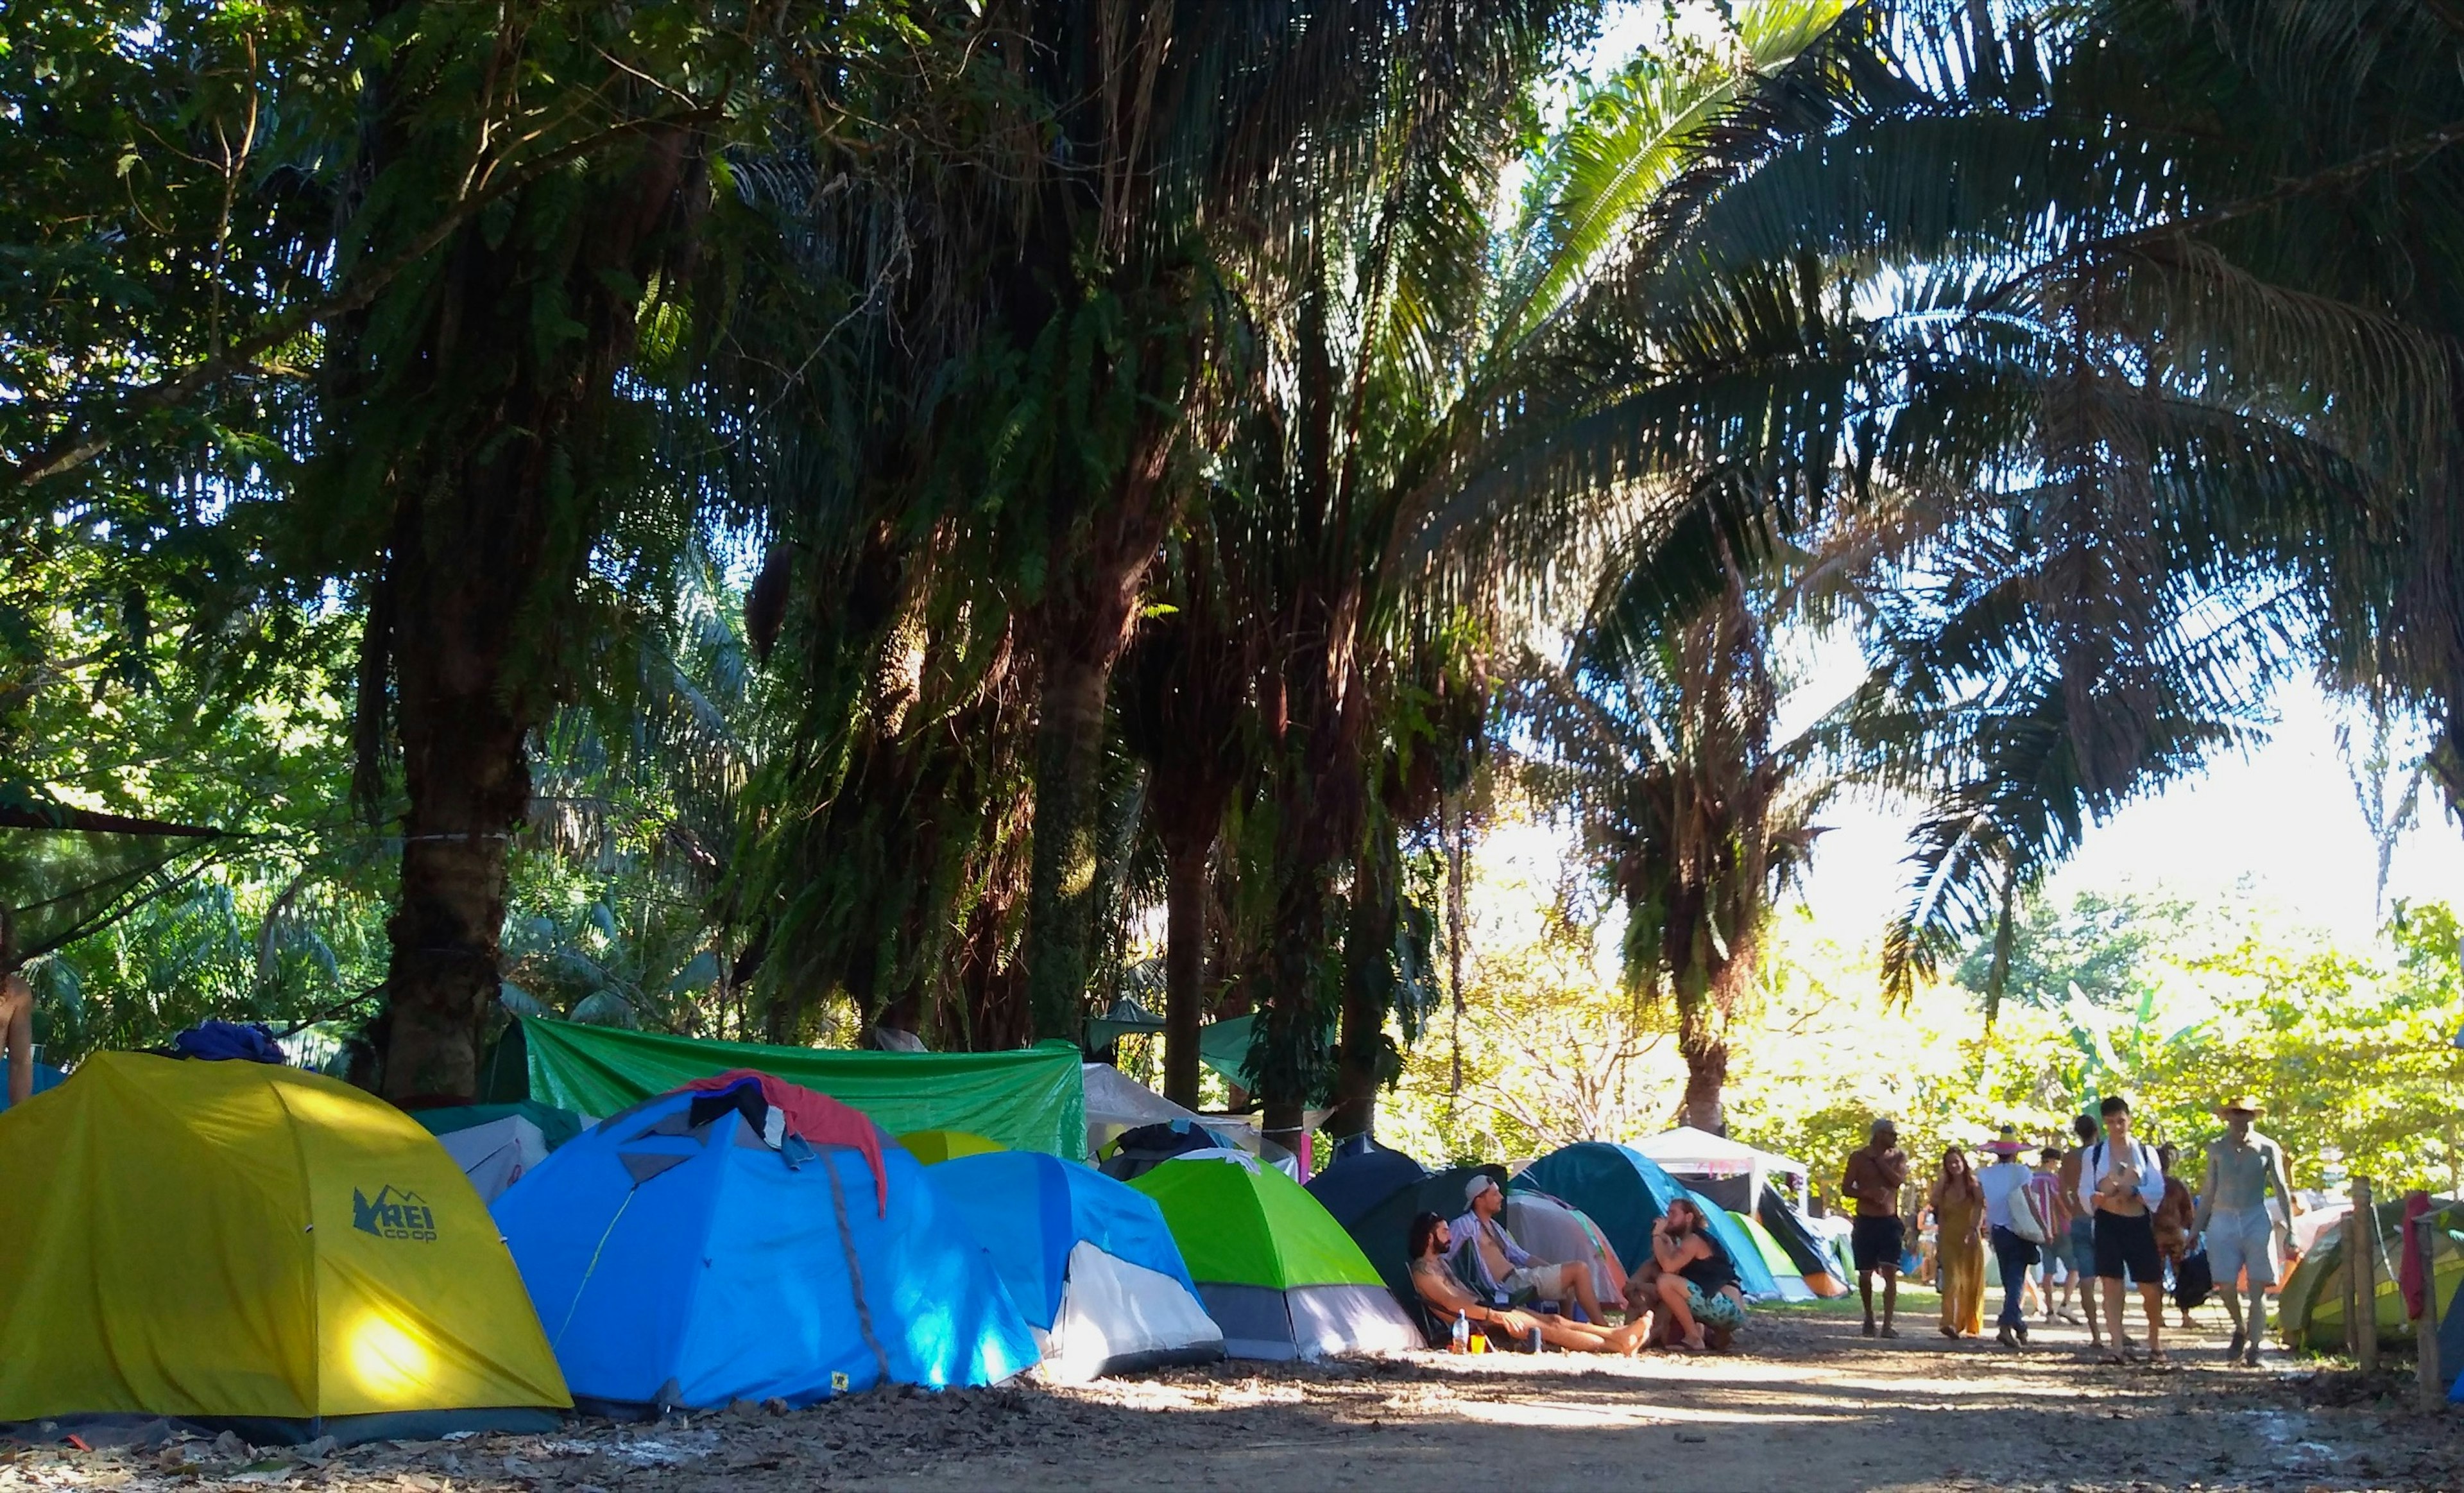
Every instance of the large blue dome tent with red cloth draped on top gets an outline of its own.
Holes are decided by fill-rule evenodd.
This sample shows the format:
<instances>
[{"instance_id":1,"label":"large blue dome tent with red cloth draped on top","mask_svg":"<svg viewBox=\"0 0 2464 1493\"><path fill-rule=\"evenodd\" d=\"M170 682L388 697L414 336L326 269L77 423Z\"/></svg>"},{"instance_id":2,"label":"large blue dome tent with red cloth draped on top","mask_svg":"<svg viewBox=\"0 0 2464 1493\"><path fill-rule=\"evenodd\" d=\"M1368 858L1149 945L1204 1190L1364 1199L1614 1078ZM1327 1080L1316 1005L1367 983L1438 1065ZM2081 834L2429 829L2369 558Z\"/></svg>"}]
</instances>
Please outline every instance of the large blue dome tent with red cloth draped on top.
<instances>
[{"instance_id":1,"label":"large blue dome tent with red cloth draped on top","mask_svg":"<svg viewBox=\"0 0 2464 1493\"><path fill-rule=\"evenodd\" d=\"M779 1079L601 1121L495 1222L577 1402L606 1414L993 1385L1035 1362L924 1163Z\"/></svg>"}]
</instances>

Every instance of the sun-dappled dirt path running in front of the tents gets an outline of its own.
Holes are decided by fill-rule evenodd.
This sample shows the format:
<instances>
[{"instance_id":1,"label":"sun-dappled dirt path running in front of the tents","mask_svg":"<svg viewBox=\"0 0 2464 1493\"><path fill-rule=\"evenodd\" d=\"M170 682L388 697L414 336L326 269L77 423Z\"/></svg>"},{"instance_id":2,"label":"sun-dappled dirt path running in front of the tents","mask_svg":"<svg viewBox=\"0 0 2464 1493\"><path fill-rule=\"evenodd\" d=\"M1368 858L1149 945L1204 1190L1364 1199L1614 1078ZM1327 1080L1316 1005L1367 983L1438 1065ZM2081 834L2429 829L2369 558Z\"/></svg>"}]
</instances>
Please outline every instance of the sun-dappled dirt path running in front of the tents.
<instances>
[{"instance_id":1,"label":"sun-dappled dirt path running in front of the tents","mask_svg":"<svg viewBox=\"0 0 2464 1493\"><path fill-rule=\"evenodd\" d=\"M2208 1313L2215 1316L2213 1311ZM1912 1323L1762 1313L1725 1357L1414 1355L1170 1372L1082 1390L867 1394L801 1414L582 1424L559 1436L379 1444L301 1461L229 1441L0 1451L0 1491L283 1486L347 1493L788 1488L2459 1488L2464 1407L2412 1412L2289 1360L2173 1372L2025 1355ZM1917 1335L1927 1333L1927 1335Z\"/></svg>"}]
</instances>

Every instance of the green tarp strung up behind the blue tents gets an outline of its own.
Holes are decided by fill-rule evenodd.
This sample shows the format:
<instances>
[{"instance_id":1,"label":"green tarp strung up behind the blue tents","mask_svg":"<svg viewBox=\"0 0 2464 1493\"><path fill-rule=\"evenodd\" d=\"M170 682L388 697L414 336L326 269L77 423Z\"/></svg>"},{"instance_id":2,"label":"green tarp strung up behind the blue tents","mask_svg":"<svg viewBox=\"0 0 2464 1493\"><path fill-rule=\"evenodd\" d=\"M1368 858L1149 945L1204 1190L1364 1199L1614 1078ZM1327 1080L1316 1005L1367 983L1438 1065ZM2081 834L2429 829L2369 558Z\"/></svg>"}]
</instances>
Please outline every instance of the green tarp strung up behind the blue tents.
<instances>
[{"instance_id":1,"label":"green tarp strung up behind the blue tents","mask_svg":"<svg viewBox=\"0 0 2464 1493\"><path fill-rule=\"evenodd\" d=\"M853 1104L892 1136L971 1131L1010 1151L1087 1160L1087 1082L1079 1050L838 1052L702 1042L582 1022L522 1018L530 1099L609 1116L678 1084L749 1067Z\"/></svg>"}]
</instances>

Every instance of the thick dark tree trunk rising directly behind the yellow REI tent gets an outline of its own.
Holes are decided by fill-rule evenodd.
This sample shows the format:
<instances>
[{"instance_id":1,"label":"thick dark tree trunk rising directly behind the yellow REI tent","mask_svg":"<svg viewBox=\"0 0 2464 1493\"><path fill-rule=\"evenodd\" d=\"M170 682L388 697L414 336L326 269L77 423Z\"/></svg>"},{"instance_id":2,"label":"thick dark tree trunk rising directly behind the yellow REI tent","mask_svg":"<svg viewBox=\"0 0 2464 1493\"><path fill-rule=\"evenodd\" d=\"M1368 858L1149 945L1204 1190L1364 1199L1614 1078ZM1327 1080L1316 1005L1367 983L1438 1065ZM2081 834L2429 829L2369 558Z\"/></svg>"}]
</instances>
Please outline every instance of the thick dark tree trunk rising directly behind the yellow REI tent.
<instances>
[{"instance_id":1,"label":"thick dark tree trunk rising directly behind the yellow REI tent","mask_svg":"<svg viewBox=\"0 0 2464 1493\"><path fill-rule=\"evenodd\" d=\"M540 217L517 197L493 244L468 229L441 251L414 333L367 345L362 318L335 340L333 461L394 515L387 631L367 638L372 678L392 660L409 796L387 921L389 1099L476 1091L508 850L530 808L525 737L549 710L554 628L614 478L606 419L638 286L687 241L697 165L697 138L668 131L594 177L579 214L564 195ZM542 335L542 303L567 335Z\"/></svg>"}]
</instances>

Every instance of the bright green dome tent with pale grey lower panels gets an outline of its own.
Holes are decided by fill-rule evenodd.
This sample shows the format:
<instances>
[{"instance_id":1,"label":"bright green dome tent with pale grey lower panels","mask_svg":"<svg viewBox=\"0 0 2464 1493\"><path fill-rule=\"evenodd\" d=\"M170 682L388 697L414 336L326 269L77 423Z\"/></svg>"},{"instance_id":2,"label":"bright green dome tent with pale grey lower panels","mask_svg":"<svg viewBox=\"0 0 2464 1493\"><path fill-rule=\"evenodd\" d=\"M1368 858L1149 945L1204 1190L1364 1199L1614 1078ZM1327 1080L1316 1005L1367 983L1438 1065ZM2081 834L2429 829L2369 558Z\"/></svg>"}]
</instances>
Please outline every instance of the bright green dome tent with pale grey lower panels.
<instances>
[{"instance_id":1,"label":"bright green dome tent with pale grey lower panels","mask_svg":"<svg viewBox=\"0 0 2464 1493\"><path fill-rule=\"evenodd\" d=\"M1316 1197L1257 1160L1165 1160L1131 1188L1163 1207L1232 1357L1419 1348L1422 1333Z\"/></svg>"}]
</instances>

